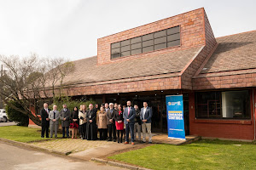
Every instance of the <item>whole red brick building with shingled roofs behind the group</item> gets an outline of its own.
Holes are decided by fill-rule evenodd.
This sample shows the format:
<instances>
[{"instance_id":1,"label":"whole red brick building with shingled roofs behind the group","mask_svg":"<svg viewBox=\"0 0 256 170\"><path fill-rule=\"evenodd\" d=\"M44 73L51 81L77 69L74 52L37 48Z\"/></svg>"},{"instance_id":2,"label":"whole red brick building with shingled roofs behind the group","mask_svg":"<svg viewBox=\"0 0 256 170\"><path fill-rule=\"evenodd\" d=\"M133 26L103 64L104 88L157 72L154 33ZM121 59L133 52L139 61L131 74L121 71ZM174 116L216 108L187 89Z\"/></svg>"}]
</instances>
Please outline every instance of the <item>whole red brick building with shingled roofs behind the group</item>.
<instances>
[{"instance_id":1,"label":"whole red brick building with shingled roofs behind the group","mask_svg":"<svg viewBox=\"0 0 256 170\"><path fill-rule=\"evenodd\" d=\"M254 139L256 31L215 38L204 8L99 38L97 56L73 62L73 98L148 101L166 133L166 95L183 94L186 134Z\"/></svg>"}]
</instances>

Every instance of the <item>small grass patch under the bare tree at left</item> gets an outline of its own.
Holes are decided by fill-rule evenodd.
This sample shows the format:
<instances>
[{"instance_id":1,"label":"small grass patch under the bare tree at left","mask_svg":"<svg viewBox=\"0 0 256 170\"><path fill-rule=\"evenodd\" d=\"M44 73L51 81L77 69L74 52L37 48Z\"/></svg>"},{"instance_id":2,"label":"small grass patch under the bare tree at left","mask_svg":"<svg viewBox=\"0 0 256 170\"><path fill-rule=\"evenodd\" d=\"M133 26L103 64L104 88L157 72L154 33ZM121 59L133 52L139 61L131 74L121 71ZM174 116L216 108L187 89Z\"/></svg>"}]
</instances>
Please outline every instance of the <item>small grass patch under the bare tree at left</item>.
<instances>
[{"instance_id":1,"label":"small grass patch under the bare tree at left","mask_svg":"<svg viewBox=\"0 0 256 170\"><path fill-rule=\"evenodd\" d=\"M0 138L25 143L46 140L41 139L41 129L20 126L0 127Z\"/></svg>"}]
</instances>

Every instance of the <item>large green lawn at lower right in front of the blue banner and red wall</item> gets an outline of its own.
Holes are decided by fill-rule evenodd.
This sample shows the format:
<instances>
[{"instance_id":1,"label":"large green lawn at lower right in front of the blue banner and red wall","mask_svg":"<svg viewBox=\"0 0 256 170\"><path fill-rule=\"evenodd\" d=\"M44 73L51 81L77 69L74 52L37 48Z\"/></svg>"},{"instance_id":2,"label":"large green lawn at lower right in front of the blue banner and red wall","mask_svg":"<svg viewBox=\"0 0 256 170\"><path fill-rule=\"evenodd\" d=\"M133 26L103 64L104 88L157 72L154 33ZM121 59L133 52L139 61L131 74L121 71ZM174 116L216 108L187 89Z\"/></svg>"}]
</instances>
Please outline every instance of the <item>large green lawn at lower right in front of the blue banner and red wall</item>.
<instances>
[{"instance_id":1,"label":"large green lawn at lower right in front of the blue banner and red wall","mask_svg":"<svg viewBox=\"0 0 256 170\"><path fill-rule=\"evenodd\" d=\"M151 169L256 169L256 144L218 139L154 144L108 158Z\"/></svg>"}]
</instances>

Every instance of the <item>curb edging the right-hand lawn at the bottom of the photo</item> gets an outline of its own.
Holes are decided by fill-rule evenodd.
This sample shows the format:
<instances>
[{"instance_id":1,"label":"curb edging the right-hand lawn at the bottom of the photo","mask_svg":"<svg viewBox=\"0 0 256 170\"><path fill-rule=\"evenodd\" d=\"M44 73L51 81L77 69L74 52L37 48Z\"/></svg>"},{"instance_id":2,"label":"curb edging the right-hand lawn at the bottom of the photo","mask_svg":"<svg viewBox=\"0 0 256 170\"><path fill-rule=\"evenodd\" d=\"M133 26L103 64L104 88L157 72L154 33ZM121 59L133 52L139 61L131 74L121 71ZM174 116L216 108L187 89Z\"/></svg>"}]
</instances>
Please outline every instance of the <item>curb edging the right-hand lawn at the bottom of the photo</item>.
<instances>
[{"instance_id":1,"label":"curb edging the right-hand lawn at the bottom of the photo","mask_svg":"<svg viewBox=\"0 0 256 170\"><path fill-rule=\"evenodd\" d=\"M126 169L134 169L134 170L150 170L146 167L136 167L136 166L132 166L129 164L125 164L125 163L120 163L117 161L108 161L108 160L104 160L104 159L100 159L100 158L91 158L90 161L96 161L96 162L100 162L100 163L105 163L111 166L115 166L115 167L125 167Z\"/></svg>"}]
</instances>

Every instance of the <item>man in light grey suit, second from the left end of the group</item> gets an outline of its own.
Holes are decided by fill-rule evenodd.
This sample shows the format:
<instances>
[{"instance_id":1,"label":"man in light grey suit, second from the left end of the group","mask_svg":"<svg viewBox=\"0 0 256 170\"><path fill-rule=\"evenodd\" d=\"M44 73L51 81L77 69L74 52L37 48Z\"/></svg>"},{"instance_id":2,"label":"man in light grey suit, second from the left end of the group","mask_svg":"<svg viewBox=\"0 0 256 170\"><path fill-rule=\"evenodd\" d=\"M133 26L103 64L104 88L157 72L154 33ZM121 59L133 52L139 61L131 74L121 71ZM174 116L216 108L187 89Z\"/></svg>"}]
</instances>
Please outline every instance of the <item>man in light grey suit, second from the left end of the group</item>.
<instances>
[{"instance_id":1,"label":"man in light grey suit, second from the left end of the group","mask_svg":"<svg viewBox=\"0 0 256 170\"><path fill-rule=\"evenodd\" d=\"M53 131L55 131L55 138L57 138L57 132L59 128L60 112L57 111L57 105L53 106L53 111L49 111L49 129L50 138L52 138Z\"/></svg>"}]
</instances>

